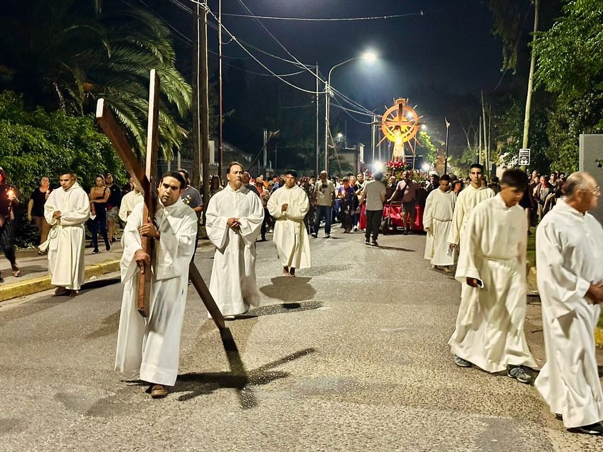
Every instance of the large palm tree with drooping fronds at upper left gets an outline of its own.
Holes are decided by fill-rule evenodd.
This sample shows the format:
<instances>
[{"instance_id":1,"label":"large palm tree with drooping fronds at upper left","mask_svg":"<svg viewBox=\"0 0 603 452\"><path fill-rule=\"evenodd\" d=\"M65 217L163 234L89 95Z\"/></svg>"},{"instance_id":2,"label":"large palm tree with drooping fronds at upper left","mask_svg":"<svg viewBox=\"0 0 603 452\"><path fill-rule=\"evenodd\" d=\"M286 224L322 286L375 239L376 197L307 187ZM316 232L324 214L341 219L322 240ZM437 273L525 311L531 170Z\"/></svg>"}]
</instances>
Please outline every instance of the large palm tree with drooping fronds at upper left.
<instances>
[{"instance_id":1,"label":"large palm tree with drooping fronds at upper left","mask_svg":"<svg viewBox=\"0 0 603 452\"><path fill-rule=\"evenodd\" d=\"M0 7L0 86L30 106L93 111L107 99L139 154L146 145L149 71L161 80L159 146L166 158L186 131L191 86L175 67L170 33L150 11L101 0L5 0Z\"/></svg>"}]
</instances>

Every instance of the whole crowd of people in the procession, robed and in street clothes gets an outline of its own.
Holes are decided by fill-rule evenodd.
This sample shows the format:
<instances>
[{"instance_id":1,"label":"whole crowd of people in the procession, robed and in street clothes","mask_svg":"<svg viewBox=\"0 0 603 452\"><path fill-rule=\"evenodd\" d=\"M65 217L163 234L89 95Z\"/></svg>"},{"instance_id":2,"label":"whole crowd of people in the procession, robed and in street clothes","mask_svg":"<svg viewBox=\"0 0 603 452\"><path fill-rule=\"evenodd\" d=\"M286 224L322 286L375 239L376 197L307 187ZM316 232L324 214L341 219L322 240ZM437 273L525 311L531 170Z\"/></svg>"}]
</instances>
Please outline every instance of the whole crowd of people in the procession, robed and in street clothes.
<instances>
[{"instance_id":1,"label":"whole crowd of people in the procession, robed and in street clothes","mask_svg":"<svg viewBox=\"0 0 603 452\"><path fill-rule=\"evenodd\" d=\"M603 303L603 227L589 213L601 195L592 176L534 172L528 178L520 169L508 169L500 180L487 183L484 168L473 164L466 179L411 171L399 181L380 171L331 179L323 171L314 179L291 170L269 181L252 178L235 162L226 178L223 186L212 177L211 196L204 203L190 186L188 172L166 172L151 222L143 218L142 195L132 182L121 206L117 196L112 198L118 190L112 190L110 175L97 177L86 194L75 174L66 171L59 189L50 190L48 179L42 178L31 196L28 218L36 218L46 236L40 252L48 253L56 295L77 295L83 283L84 224L94 221L92 233L100 233L109 250L115 234L110 217L115 221L116 214L125 221L115 368L138 370L151 397L166 397L177 378L188 266L203 210L207 236L215 245L209 291L222 315L232 320L259 304L256 241L266 240L268 231L273 231L283 275L295 277L297 269L311 266L310 237L318 237L323 221L324 237L330 236L334 220L343 233L364 224L365 243L379 246L385 205L400 202L403 234L410 234L422 203L425 259L444 272L456 265L455 278L461 283L449 340L456 365L506 372L533 384L568 430L603 435L593 337ZM1 169L0 201L0 245L18 275L11 223L19 198ZM523 329L526 244L533 216L540 223L535 243L546 350L540 373ZM142 249L142 237L156 243L154 256ZM98 236L93 246L98 252ZM134 303L145 265L153 266L148 318L137 315Z\"/></svg>"}]
</instances>

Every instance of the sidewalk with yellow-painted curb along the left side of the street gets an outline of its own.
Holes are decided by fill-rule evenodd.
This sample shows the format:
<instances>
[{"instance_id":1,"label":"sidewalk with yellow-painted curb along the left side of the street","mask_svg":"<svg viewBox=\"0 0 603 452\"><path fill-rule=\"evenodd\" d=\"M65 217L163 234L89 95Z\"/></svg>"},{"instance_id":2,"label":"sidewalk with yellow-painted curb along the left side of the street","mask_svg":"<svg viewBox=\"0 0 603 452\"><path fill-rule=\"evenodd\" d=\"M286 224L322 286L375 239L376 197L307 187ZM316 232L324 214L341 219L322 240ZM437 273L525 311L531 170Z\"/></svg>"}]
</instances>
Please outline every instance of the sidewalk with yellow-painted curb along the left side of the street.
<instances>
[{"instance_id":1,"label":"sidewalk with yellow-painted curb along the left side of the street","mask_svg":"<svg viewBox=\"0 0 603 452\"><path fill-rule=\"evenodd\" d=\"M209 240L199 240L198 248L209 246ZM121 259L121 242L113 243L111 251L101 251L92 254L92 248L84 251L84 264L86 265L86 280L93 276L119 271ZM37 254L36 250L17 251L17 265L21 270L18 278L13 276L10 263L4 256L0 256L0 271L4 283L0 283L0 303L11 298L24 297L32 293L52 289L48 275L48 257Z\"/></svg>"}]
</instances>

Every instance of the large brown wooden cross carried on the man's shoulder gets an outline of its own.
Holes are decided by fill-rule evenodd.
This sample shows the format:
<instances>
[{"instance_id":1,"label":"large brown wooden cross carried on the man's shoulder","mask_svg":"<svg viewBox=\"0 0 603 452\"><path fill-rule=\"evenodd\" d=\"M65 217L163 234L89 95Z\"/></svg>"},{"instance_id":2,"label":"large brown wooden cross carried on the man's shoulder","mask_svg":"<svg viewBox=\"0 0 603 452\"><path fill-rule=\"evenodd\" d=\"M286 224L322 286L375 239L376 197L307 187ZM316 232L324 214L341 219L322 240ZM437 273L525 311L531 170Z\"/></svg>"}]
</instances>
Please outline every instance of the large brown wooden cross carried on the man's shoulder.
<instances>
[{"instance_id":1,"label":"large brown wooden cross carried on the man's shoulder","mask_svg":"<svg viewBox=\"0 0 603 452\"><path fill-rule=\"evenodd\" d=\"M157 172L157 143L159 137L159 76L155 69L151 69L145 169L142 168L136 159L136 155L132 151L130 143L128 143L127 138L117 121L115 121L115 117L113 116L113 113L111 113L111 110L109 110L104 99L98 99L98 102L96 103L96 121L98 121L103 132L109 137L113 148L115 148L119 157L123 160L124 166L134 179L137 189L144 195L145 204L143 221L153 221L157 206L157 184L155 178ZM142 237L142 248L149 256L151 256L151 262L154 262L153 240ZM189 279L195 289L197 289L201 300L212 315L212 319L218 329L221 331L224 330L224 316L218 309L218 306L216 306L216 303L194 262L191 262L191 265L189 266ZM140 278L137 299L138 312L144 317L148 317L149 315L150 289L151 268L150 265L145 265L144 278Z\"/></svg>"}]
</instances>

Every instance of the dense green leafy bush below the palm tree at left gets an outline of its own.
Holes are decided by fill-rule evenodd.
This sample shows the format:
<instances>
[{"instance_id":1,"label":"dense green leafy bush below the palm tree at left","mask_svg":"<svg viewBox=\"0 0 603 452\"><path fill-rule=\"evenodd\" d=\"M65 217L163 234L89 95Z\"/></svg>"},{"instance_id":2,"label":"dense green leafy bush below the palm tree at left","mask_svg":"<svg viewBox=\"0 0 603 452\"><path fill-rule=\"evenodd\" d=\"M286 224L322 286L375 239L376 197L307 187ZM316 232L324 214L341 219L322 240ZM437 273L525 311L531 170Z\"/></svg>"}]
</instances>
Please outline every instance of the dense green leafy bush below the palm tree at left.
<instances>
[{"instance_id":1,"label":"dense green leafy bush below the palm tree at left","mask_svg":"<svg viewBox=\"0 0 603 452\"><path fill-rule=\"evenodd\" d=\"M27 224L27 203L42 176L58 187L60 172L71 169L84 190L97 174L113 173L118 186L127 180L121 160L93 116L68 116L43 108L27 111L21 96L10 91L0 93L0 166L21 200L17 246L36 243L37 231Z\"/></svg>"}]
</instances>

